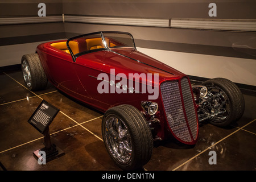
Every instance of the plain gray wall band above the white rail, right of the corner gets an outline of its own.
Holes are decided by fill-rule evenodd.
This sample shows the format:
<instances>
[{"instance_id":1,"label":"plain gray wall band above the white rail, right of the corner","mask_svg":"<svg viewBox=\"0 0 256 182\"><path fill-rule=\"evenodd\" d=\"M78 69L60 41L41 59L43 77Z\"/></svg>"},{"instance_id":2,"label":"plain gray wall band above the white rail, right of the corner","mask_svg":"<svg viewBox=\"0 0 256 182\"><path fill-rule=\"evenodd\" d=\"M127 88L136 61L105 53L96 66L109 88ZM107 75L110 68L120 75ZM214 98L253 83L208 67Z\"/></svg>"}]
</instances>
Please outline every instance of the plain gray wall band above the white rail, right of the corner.
<instances>
[{"instance_id":1,"label":"plain gray wall band above the white rail, right of the corner","mask_svg":"<svg viewBox=\"0 0 256 182\"><path fill-rule=\"evenodd\" d=\"M212 2L217 5L217 18L256 18L256 2L253 0L64 0L63 13L143 18L209 18L208 5Z\"/></svg>"}]
</instances>

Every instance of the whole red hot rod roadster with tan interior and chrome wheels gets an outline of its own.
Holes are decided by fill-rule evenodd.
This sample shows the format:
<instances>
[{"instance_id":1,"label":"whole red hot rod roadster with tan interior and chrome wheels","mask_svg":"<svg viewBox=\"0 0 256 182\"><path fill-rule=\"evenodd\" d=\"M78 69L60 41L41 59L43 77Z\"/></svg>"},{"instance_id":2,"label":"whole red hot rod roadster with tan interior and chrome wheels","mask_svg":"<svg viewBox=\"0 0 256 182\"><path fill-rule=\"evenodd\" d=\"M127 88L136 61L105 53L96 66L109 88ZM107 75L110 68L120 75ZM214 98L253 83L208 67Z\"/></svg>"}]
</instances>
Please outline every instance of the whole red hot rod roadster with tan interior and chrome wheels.
<instances>
[{"instance_id":1,"label":"whole red hot rod roadster with tan interior and chrome wheels","mask_svg":"<svg viewBox=\"0 0 256 182\"><path fill-rule=\"evenodd\" d=\"M243 114L241 91L225 78L193 85L188 76L137 51L127 32L95 32L40 44L22 57L28 89L49 80L76 100L103 111L102 137L122 169L142 167L154 140L195 144L199 122L217 126Z\"/></svg>"}]
</instances>

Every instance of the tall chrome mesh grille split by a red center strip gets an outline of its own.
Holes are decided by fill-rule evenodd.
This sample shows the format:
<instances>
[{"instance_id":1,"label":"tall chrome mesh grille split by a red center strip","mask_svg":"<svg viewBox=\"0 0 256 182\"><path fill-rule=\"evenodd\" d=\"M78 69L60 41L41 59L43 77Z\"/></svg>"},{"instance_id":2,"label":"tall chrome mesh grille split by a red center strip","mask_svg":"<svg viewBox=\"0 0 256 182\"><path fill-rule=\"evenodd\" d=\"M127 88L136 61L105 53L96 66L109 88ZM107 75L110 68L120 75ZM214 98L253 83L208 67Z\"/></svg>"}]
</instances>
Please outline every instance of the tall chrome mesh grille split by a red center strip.
<instances>
[{"instance_id":1,"label":"tall chrome mesh grille split by a red center strip","mask_svg":"<svg viewBox=\"0 0 256 182\"><path fill-rule=\"evenodd\" d=\"M191 133L193 139L196 139L197 121L188 79L185 77L181 79L181 93L185 110L182 105L178 80L165 81L160 85L160 89L170 129L180 140L192 142L191 134L189 133L191 129L189 129L189 127L192 127ZM189 127L185 115L187 116Z\"/></svg>"}]
</instances>

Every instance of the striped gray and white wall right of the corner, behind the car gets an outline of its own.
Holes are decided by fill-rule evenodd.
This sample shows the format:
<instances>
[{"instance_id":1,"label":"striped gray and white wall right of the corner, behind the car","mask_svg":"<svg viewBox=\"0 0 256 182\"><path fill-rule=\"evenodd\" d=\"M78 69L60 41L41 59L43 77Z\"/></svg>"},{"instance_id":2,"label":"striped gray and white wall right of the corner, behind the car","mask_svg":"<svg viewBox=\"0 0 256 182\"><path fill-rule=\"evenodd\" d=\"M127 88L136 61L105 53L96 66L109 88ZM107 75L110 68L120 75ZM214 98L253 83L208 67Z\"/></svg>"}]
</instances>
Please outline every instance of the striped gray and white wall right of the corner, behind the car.
<instances>
[{"instance_id":1,"label":"striped gray and white wall right of the corner, behind the car","mask_svg":"<svg viewBox=\"0 0 256 182\"><path fill-rule=\"evenodd\" d=\"M217 4L217 16L210 17L208 14L211 2ZM241 20L238 27L246 21L248 24L253 22L256 27L255 7L255 1L242 0L63 1L63 13L67 20L65 32L69 36L102 30L128 31L133 34L139 51L188 75L225 77L247 85L256 85L256 32L236 30L234 26L230 30L221 28L225 27L223 21L227 19ZM167 19L169 26L154 23L151 26L127 26L123 25L126 18L134 22L136 19L138 22L142 19L159 22ZM105 19L105 23L100 19ZM207 19L217 19L222 27L220 30L172 28L172 20L186 19L200 20L199 24ZM92 23L88 23L91 20Z\"/></svg>"}]
</instances>

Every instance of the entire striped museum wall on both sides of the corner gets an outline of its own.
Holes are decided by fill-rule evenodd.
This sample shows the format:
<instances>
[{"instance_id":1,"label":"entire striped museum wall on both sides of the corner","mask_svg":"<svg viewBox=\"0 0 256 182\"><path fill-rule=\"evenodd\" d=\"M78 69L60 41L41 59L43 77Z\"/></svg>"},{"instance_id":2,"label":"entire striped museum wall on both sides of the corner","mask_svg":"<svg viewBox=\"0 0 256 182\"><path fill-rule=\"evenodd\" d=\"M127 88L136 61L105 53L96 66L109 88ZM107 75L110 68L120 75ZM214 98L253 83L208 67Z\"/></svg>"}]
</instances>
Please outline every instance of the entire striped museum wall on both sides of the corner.
<instances>
[{"instance_id":1,"label":"entire striped museum wall on both sides of the corner","mask_svg":"<svg viewBox=\"0 0 256 182\"><path fill-rule=\"evenodd\" d=\"M18 5L15 2L20 1L6 2L12 3L2 6L1 2L1 17L37 16L39 9L35 6L39 1L22 1ZM208 6L212 2L217 5L217 16L209 16ZM33 51L32 48L44 40L94 31L127 31L133 34L139 51L187 75L225 77L240 84L256 85L255 1L63 0L44 3L47 16L57 16L63 22L0 24L0 39L6 44L0 45L0 52L5 52L0 67L18 64L15 56L9 58L7 52L12 48L19 50L20 44L21 54L25 49ZM184 21L187 21L185 26ZM10 61L6 61L8 59Z\"/></svg>"}]
</instances>

